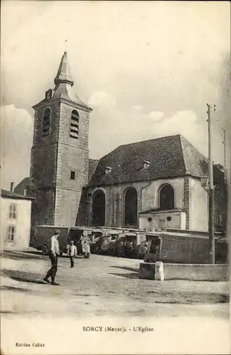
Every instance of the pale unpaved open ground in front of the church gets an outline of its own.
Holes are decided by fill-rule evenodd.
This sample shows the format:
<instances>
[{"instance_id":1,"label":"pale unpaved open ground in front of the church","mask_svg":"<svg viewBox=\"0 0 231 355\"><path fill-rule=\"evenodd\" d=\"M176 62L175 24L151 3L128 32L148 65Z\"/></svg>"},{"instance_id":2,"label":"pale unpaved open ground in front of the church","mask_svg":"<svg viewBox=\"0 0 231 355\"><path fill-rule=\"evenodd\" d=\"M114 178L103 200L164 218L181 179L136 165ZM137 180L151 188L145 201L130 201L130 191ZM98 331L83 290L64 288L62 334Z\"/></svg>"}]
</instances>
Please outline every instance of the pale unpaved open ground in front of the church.
<instances>
[{"instance_id":1,"label":"pale unpaved open ground in front of the church","mask_svg":"<svg viewBox=\"0 0 231 355\"><path fill-rule=\"evenodd\" d=\"M55 307L58 314L169 317L198 315L199 310L200 314L228 317L227 282L140 280L140 261L92 254L90 259L75 258L75 268L70 268L67 257L59 258L60 286L54 287L43 283L50 268L47 256L38 252L8 252L4 256L2 312L47 314Z\"/></svg>"}]
</instances>

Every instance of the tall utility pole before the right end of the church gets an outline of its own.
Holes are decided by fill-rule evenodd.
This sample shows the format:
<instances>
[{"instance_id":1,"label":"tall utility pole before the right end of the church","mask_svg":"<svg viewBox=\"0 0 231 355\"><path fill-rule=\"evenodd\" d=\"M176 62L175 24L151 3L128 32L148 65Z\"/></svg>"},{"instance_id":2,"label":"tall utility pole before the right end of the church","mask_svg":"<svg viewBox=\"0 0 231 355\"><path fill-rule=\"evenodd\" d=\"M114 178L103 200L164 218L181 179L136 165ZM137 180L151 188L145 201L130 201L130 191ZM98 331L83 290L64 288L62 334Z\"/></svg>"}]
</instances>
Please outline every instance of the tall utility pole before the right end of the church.
<instances>
[{"instance_id":1,"label":"tall utility pole before the right end of the church","mask_svg":"<svg viewBox=\"0 0 231 355\"><path fill-rule=\"evenodd\" d=\"M210 264L215 264L215 240L214 240L214 186L213 186L213 159L212 159L212 140L211 140L211 121L210 113L215 111L215 105L208 107L208 234L209 234L209 259Z\"/></svg>"}]
</instances>

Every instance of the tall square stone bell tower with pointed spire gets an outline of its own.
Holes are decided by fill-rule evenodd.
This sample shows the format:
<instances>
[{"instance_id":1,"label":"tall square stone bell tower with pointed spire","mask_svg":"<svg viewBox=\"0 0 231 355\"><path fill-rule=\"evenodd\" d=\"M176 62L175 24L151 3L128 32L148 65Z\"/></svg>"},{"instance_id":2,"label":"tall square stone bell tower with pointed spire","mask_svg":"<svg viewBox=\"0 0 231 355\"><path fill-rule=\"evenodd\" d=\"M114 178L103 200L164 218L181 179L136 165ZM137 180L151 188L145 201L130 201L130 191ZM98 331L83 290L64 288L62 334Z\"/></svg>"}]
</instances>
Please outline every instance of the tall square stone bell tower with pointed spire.
<instances>
[{"instance_id":1,"label":"tall square stone bell tower with pointed spire","mask_svg":"<svg viewBox=\"0 0 231 355\"><path fill-rule=\"evenodd\" d=\"M75 226L82 187L88 180L90 107L73 90L64 52L55 88L35 110L31 180L35 203L32 223Z\"/></svg>"}]
</instances>

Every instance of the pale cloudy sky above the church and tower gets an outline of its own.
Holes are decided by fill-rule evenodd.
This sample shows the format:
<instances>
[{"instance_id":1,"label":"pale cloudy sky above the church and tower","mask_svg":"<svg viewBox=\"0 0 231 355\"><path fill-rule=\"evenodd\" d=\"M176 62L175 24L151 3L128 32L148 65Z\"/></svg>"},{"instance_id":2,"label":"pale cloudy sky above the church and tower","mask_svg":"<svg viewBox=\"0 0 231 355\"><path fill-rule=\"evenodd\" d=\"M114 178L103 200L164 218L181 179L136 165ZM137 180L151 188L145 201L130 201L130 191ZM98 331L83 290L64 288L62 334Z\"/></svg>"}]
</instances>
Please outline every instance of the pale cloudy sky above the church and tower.
<instances>
[{"instance_id":1,"label":"pale cloudy sky above the church and tower","mask_svg":"<svg viewBox=\"0 0 231 355\"><path fill-rule=\"evenodd\" d=\"M230 2L4 0L1 187L29 176L31 107L54 87L64 50L75 93L93 109L90 158L178 133L208 155L210 103L212 156L224 165Z\"/></svg>"}]
</instances>

